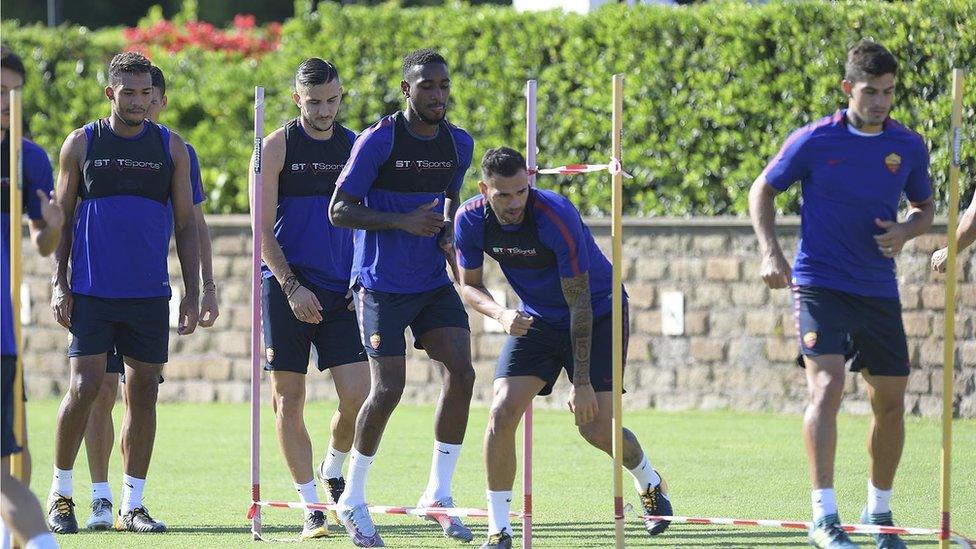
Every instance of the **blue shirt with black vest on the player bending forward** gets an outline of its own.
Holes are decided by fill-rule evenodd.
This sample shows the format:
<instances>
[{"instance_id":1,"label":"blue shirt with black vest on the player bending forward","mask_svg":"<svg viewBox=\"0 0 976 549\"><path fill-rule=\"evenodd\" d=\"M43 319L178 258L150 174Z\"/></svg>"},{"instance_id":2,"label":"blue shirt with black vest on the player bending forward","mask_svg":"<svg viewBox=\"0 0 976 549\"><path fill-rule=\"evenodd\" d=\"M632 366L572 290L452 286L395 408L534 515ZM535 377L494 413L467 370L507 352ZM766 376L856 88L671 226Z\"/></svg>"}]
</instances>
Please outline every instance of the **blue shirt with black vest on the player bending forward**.
<instances>
[{"instance_id":1,"label":"blue shirt with black vest on the player bending forward","mask_svg":"<svg viewBox=\"0 0 976 549\"><path fill-rule=\"evenodd\" d=\"M495 258L522 301L520 309L557 328L569 328L560 278L589 273L594 318L613 306L613 269L579 211L564 196L530 188L519 225L501 225L481 195L467 200L454 221L458 265L477 269Z\"/></svg>"}]
</instances>

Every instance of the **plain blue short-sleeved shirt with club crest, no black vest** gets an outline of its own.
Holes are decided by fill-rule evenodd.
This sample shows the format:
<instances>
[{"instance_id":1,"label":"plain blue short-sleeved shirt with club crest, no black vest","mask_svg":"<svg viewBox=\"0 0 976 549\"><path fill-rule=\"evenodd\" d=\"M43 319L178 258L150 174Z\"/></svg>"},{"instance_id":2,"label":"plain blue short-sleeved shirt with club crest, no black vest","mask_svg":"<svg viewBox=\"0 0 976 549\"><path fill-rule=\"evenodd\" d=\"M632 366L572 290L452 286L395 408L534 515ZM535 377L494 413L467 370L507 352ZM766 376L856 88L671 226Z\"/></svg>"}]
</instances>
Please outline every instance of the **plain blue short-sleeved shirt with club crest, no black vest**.
<instances>
[{"instance_id":1,"label":"plain blue short-sleeved shirt with club crest, no black vest","mask_svg":"<svg viewBox=\"0 0 976 549\"><path fill-rule=\"evenodd\" d=\"M875 218L898 220L902 195L932 196L922 137L888 118L875 136L851 133L846 109L793 132L763 171L784 191L802 185L793 283L869 297L898 297L895 261L881 254Z\"/></svg>"}]
</instances>

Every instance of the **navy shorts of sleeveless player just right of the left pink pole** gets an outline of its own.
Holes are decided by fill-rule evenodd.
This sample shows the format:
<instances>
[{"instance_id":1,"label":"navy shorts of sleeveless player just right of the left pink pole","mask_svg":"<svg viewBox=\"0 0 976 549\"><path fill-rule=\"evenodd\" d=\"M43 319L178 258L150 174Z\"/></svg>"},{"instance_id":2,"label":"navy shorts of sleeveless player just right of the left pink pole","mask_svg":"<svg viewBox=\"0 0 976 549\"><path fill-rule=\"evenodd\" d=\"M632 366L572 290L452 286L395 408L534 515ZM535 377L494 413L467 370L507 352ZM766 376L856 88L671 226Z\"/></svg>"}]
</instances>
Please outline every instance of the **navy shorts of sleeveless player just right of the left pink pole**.
<instances>
[{"instance_id":1,"label":"navy shorts of sleeveless player just right of the left pink pole","mask_svg":"<svg viewBox=\"0 0 976 549\"><path fill-rule=\"evenodd\" d=\"M366 360L356 313L349 310L346 294L316 287L302 277L299 282L318 298L322 322L309 324L298 320L278 281L274 277L265 278L261 282L267 359L264 369L307 374L312 345L319 357L320 371Z\"/></svg>"}]
</instances>

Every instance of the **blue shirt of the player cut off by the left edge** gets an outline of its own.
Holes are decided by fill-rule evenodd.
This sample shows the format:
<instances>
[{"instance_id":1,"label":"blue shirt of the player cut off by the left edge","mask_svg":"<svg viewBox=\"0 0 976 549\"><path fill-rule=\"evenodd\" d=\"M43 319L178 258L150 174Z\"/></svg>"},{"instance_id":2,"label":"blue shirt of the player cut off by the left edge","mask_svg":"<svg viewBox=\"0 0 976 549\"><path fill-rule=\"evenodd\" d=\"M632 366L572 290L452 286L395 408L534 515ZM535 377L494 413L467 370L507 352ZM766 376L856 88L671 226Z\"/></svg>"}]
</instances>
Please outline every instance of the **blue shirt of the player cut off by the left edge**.
<instances>
[{"instance_id":1,"label":"blue shirt of the player cut off by the left edge","mask_svg":"<svg viewBox=\"0 0 976 549\"><path fill-rule=\"evenodd\" d=\"M10 293L10 215L20 216L27 212L31 219L41 219L41 200L37 197L37 191L50 193L54 189L54 174L51 170L51 161L48 160L44 149L40 148L33 141L24 139L23 144L23 191L24 203L16 208L10 204L10 140L4 137L0 144L3 157L2 177L3 210L0 213L0 232L3 233L3 297L2 308L3 323L2 349L0 354L3 356L16 356L17 348L14 342L14 306ZM24 250L28 252L28 250ZM20 291L20 288L16 288Z\"/></svg>"}]
</instances>

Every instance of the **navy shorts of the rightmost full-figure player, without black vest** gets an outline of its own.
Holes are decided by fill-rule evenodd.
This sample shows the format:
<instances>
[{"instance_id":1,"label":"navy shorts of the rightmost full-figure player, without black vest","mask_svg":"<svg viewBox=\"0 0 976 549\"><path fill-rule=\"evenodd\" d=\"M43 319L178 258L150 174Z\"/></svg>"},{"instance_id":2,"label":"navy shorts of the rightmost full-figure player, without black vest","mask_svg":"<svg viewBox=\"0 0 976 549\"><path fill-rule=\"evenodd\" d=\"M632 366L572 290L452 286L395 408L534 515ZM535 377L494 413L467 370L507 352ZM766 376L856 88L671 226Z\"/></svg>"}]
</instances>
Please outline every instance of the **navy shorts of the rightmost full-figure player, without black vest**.
<instances>
[{"instance_id":1,"label":"navy shorts of the rightmost full-figure player, without black vest","mask_svg":"<svg viewBox=\"0 0 976 549\"><path fill-rule=\"evenodd\" d=\"M799 286L793 299L801 367L804 356L843 355L852 372L908 375L908 341L898 298Z\"/></svg>"}]
</instances>

